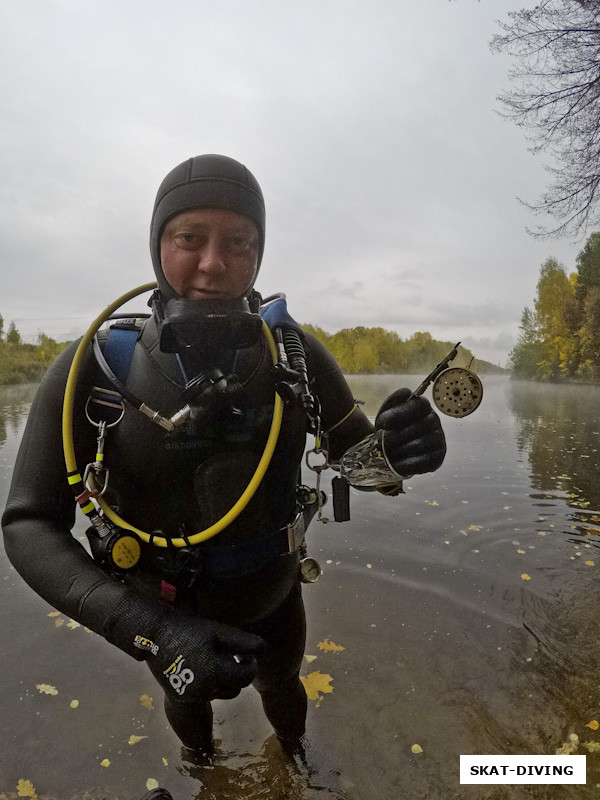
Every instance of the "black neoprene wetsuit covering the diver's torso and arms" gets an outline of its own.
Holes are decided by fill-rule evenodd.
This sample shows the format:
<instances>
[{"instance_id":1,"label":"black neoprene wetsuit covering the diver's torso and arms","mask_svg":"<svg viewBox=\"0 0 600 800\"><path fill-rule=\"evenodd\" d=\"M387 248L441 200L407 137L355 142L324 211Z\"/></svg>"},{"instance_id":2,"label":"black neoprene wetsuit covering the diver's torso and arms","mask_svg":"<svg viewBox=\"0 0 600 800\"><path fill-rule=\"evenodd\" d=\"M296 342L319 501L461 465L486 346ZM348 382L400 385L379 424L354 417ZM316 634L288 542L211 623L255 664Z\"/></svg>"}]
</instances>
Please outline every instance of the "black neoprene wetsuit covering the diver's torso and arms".
<instances>
[{"instance_id":1,"label":"black neoprene wetsuit covering the diver's torso and arms","mask_svg":"<svg viewBox=\"0 0 600 800\"><path fill-rule=\"evenodd\" d=\"M66 481L61 416L75 348L76 343L52 365L33 402L2 520L8 557L40 596L101 635L125 593L133 589L159 599L161 582L166 580L176 588L177 608L262 636L270 647L260 659L255 685L263 702L267 698L269 715L269 687L298 683L304 613L298 553L257 558L253 547L289 523L294 513L306 438L304 412L298 404L285 406L277 446L256 495L228 528L187 553L195 571L178 574L181 554L172 556L170 550L143 545L138 568L115 576L96 564L71 535L75 502ZM350 389L325 348L307 336L306 351L323 430L332 429L328 446L335 459L373 426L359 409L352 412ZM109 430L105 451L109 501L138 528L167 536L204 530L231 508L254 473L274 399L265 340L231 353L223 367L224 372L235 373L243 387L234 400L235 413L225 404L167 433L127 407L123 420ZM80 470L95 458L97 429L84 408L98 382L102 378L89 353L77 386L73 426ZM152 408L170 416L183 404L183 383L177 358L158 347L151 318L136 345L127 385ZM217 557L210 562L214 567L202 565L207 551L214 555L214 548L229 546L238 554L233 562L226 559L220 564ZM185 716L189 709L167 707L167 712L173 723L174 715Z\"/></svg>"}]
</instances>

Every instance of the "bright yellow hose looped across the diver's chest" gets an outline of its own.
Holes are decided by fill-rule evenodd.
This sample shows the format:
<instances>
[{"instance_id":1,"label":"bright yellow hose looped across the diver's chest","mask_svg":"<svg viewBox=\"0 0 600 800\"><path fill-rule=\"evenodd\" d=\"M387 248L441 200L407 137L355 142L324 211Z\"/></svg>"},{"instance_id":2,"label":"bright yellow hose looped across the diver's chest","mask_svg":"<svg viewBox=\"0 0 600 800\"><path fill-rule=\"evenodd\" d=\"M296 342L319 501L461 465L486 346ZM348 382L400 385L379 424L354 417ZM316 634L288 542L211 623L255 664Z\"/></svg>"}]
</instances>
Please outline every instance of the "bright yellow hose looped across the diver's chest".
<instances>
[{"instance_id":1,"label":"bright yellow hose looped across the diver's chest","mask_svg":"<svg viewBox=\"0 0 600 800\"><path fill-rule=\"evenodd\" d=\"M150 289L154 289L156 287L155 283L146 283L143 286L139 286L137 289L132 289L130 292L127 292L118 300L115 300L114 303L111 303L105 311L100 314L97 319L92 322L88 331L82 338L79 347L75 353L75 357L73 358L73 363L71 364L71 369L69 371L69 376L67 378L67 384L65 387L65 397L63 401L63 418L62 418L62 430L63 430L63 449L65 455L65 465L67 467L67 473L69 475L69 482L71 484L76 484L81 482L81 476L77 469L77 462L75 458L75 447L73 443L73 407L74 407L74 400L75 400L75 389L77 387L77 379L79 377L79 372L81 371L81 363L83 360L83 356L89 347L90 343L92 342L94 336L98 332L101 325L106 322L106 320L114 314L114 312L126 303L128 300L131 300L137 295L142 294L143 292L147 292ZM269 352L271 353L271 358L273 359L273 364L277 363L277 345L271 335L271 331L269 330L268 325L263 320L263 333L267 340L267 345L269 347ZM265 472L271 462L271 458L273 456L273 452L275 451L275 445L277 444L277 439L279 437L279 431L281 429L281 420L283 417L283 402L281 397L275 392L275 405L273 408L273 419L271 421L271 429L269 431L269 436L267 438L267 443L265 445L265 449L261 456L260 461L258 462L258 466L256 467L256 471L248 486L242 492L239 500L229 509L229 511L221 517L220 520L217 520L213 525L209 528L206 528L203 531L199 531L198 533L193 534L192 536L183 538L173 538L173 539L166 539L162 536L155 536L153 534L146 533L145 531L139 530L134 525L131 525L129 522L126 522L122 519L106 502L106 500L99 496L96 497L95 500L104 512L105 516L111 520L115 525L119 526L120 528L125 528L126 530L132 531L135 533L142 541L144 542L151 542L158 547L185 547L189 544L199 544L200 542L204 542L207 539L216 536L217 533L220 533L224 528L226 528L233 520L241 514L241 512L246 508L254 493L258 489L260 482L262 481ZM86 508L83 507L84 512L86 512ZM93 510L93 508L92 508ZM87 513L87 512L86 512Z\"/></svg>"}]
</instances>

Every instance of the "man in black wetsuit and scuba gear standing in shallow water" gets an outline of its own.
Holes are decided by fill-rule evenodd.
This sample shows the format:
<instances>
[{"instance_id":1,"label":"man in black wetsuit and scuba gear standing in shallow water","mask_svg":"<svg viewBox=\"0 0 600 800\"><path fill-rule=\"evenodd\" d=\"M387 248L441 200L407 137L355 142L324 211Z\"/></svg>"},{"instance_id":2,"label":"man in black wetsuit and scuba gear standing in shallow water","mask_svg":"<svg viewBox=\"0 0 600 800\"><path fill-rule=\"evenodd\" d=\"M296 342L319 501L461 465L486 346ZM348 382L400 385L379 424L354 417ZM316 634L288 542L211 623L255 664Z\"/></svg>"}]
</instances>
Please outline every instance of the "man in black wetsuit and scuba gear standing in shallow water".
<instances>
[{"instance_id":1,"label":"man in black wetsuit and scuba gear standing in shallow water","mask_svg":"<svg viewBox=\"0 0 600 800\"><path fill-rule=\"evenodd\" d=\"M150 228L152 313L113 320L81 358L75 342L50 367L2 518L25 581L145 661L173 730L202 753L211 701L250 684L284 748L304 735L301 567L323 502L301 484L307 432L334 466L358 442L379 442L376 479L350 464L342 480L384 494L446 452L427 400L398 390L373 425L281 298L261 309L264 246L263 194L245 166L202 155L166 176ZM77 465L67 470L65 431ZM91 554L71 534L77 504Z\"/></svg>"}]
</instances>

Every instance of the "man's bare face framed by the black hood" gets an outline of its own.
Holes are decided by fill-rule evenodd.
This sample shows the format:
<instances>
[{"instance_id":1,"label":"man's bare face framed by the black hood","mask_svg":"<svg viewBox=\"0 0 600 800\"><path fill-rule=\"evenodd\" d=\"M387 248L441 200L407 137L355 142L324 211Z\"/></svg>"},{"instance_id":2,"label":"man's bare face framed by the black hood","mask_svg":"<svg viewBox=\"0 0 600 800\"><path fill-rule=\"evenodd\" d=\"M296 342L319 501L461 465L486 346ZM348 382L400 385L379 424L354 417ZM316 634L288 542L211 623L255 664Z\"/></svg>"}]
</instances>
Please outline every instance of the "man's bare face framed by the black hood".
<instances>
[{"instance_id":1,"label":"man's bare face framed by the black hood","mask_svg":"<svg viewBox=\"0 0 600 800\"><path fill-rule=\"evenodd\" d=\"M160 258L165 278L182 297L241 297L256 275L258 228L233 211L184 211L165 226Z\"/></svg>"}]
</instances>

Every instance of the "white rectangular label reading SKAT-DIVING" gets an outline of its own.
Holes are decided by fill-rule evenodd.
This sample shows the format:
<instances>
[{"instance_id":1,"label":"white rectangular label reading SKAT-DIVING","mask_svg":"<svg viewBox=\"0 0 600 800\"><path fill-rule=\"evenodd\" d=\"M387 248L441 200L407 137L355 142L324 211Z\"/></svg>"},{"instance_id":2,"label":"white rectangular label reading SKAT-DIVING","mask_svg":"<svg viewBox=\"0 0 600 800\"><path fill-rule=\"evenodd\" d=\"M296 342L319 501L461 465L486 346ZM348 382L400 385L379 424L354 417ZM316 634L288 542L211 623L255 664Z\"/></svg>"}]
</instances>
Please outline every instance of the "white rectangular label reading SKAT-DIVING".
<instances>
[{"instance_id":1,"label":"white rectangular label reading SKAT-DIVING","mask_svg":"<svg viewBox=\"0 0 600 800\"><path fill-rule=\"evenodd\" d=\"M461 783L585 783L585 756L461 756Z\"/></svg>"}]
</instances>

